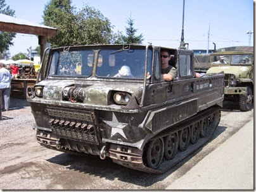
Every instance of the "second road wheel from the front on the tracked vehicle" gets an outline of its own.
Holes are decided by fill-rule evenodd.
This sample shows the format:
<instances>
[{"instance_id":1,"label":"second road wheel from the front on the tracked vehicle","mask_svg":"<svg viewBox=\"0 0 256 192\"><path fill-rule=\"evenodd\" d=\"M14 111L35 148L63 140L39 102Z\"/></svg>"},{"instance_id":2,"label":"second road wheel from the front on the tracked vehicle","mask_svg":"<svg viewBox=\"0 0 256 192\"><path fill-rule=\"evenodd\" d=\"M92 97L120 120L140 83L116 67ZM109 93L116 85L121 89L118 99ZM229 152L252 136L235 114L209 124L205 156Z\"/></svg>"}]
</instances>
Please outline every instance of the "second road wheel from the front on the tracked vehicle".
<instances>
[{"instance_id":1,"label":"second road wheel from the front on the tracked vehicle","mask_svg":"<svg viewBox=\"0 0 256 192\"><path fill-rule=\"evenodd\" d=\"M178 146L179 146L178 133L176 132L176 133L172 133L172 135L168 135L165 138L165 150L164 150L165 158L168 160L173 159L177 153Z\"/></svg>"}]
</instances>

